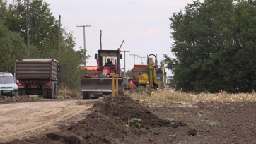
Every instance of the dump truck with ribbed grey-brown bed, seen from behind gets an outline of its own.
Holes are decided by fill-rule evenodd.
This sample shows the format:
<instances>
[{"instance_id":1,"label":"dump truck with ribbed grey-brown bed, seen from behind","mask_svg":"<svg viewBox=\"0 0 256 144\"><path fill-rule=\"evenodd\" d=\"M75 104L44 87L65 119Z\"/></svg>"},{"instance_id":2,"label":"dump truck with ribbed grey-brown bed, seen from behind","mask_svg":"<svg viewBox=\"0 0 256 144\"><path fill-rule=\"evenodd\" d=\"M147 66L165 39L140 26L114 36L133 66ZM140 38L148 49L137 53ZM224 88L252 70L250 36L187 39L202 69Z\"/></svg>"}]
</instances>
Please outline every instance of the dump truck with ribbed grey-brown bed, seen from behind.
<instances>
[{"instance_id":1,"label":"dump truck with ribbed grey-brown bed, seen from behind","mask_svg":"<svg viewBox=\"0 0 256 144\"><path fill-rule=\"evenodd\" d=\"M14 76L19 95L43 95L56 99L59 64L56 59L16 60Z\"/></svg>"}]
</instances>

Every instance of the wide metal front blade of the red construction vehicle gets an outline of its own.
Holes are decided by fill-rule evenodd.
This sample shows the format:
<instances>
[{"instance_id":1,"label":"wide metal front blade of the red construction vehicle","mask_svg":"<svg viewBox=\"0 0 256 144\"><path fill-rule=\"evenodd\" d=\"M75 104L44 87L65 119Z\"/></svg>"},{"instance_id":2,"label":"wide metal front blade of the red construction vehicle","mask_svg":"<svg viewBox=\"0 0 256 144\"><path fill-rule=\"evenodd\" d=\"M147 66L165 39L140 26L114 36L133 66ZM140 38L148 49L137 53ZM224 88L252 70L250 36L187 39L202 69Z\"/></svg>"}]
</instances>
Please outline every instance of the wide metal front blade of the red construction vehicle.
<instances>
[{"instance_id":1,"label":"wide metal front blade of the red construction vehicle","mask_svg":"<svg viewBox=\"0 0 256 144\"><path fill-rule=\"evenodd\" d=\"M122 85L122 78L118 78L119 92L122 92L124 89ZM112 78L81 78L81 91L112 92Z\"/></svg>"}]
</instances>

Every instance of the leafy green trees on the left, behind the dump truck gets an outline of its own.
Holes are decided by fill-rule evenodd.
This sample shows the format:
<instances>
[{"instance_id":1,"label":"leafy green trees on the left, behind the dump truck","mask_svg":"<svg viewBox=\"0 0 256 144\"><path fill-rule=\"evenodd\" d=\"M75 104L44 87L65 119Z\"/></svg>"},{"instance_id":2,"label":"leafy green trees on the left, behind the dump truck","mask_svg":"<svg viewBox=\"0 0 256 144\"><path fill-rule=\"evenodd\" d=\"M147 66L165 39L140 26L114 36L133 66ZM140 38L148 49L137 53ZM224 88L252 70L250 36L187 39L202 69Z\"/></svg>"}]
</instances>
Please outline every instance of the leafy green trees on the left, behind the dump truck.
<instances>
[{"instance_id":1,"label":"leafy green trees on the left, behind the dump truck","mask_svg":"<svg viewBox=\"0 0 256 144\"><path fill-rule=\"evenodd\" d=\"M15 60L27 57L26 2L0 0L0 71L14 73ZM83 49L74 50L76 43L72 32L61 28L61 54L58 52L58 20L49 4L42 0L30 2L29 37L30 59L54 58L59 61L61 85L69 90L79 90L83 76L81 64L85 59Z\"/></svg>"}]
</instances>

